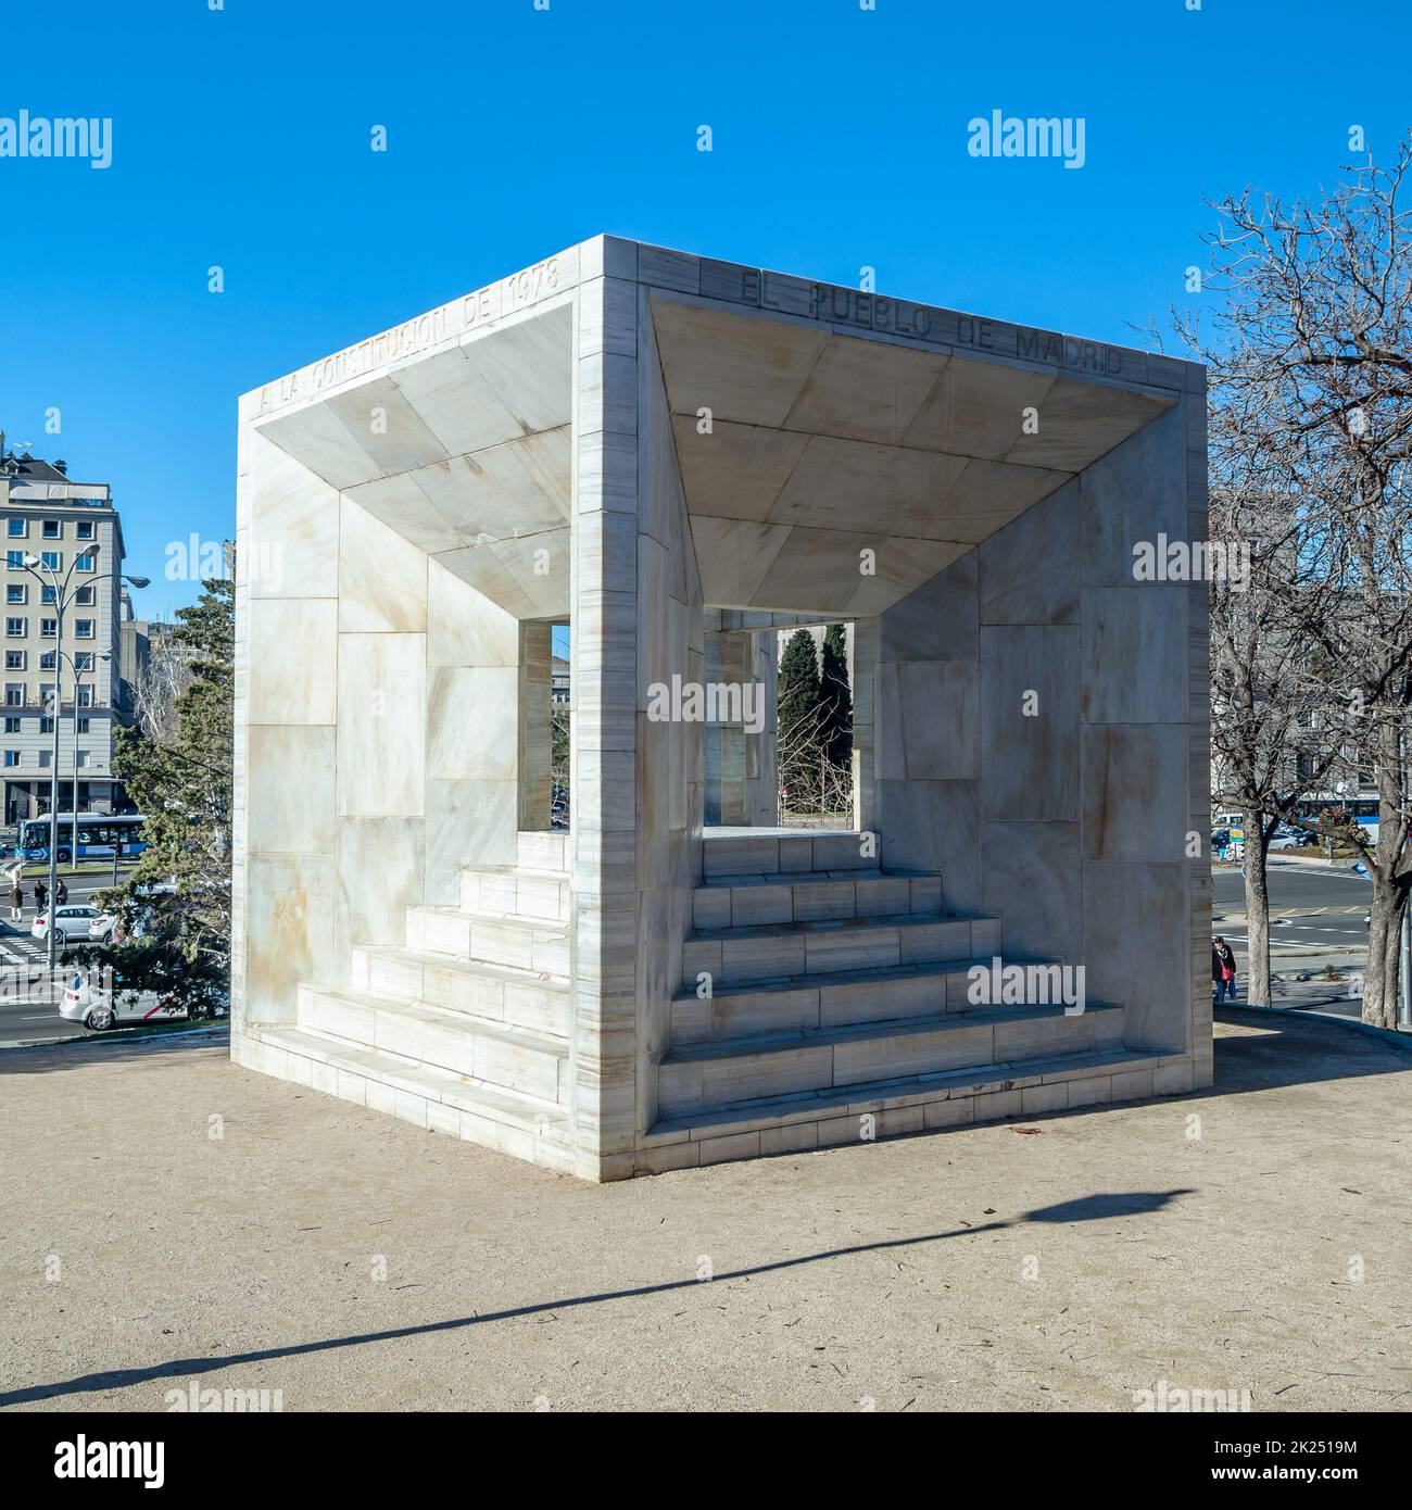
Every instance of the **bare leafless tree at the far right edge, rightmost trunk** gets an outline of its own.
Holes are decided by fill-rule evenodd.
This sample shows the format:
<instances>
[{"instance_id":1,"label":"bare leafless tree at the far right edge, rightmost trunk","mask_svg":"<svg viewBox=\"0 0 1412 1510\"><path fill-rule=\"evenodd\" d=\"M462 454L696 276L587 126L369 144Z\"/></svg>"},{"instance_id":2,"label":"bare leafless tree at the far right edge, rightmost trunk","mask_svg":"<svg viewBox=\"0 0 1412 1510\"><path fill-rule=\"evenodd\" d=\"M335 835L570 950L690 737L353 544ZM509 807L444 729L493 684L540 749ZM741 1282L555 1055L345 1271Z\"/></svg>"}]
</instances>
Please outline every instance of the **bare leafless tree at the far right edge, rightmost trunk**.
<instances>
[{"instance_id":1,"label":"bare leafless tree at the far right edge, rightmost trunk","mask_svg":"<svg viewBox=\"0 0 1412 1510\"><path fill-rule=\"evenodd\" d=\"M1409 165L1412 136L1398 145L1391 168L1371 160L1349 168L1333 190L1314 199L1284 204L1246 190L1222 201L1223 225L1208 239L1208 290L1223 294L1220 313L1210 335L1179 322L1188 347L1210 368L1217 433L1228 432L1225 456L1213 447L1217 497L1222 488L1247 500L1270 492L1288 518L1279 536L1279 633L1299 654L1272 667L1279 689L1273 701L1299 707L1314 696L1326 728L1343 725L1346 734L1336 741L1326 734L1324 770L1347 760L1355 770L1370 769L1377 785L1377 840L1361 846L1373 876L1364 1019L1382 1025L1395 1021L1397 944L1412 885L1404 856L1412 710ZM1225 474L1222 461L1231 468ZM1341 710L1336 720L1327 717L1332 710ZM1250 784L1244 797L1273 832L1281 808L1269 790Z\"/></svg>"}]
</instances>

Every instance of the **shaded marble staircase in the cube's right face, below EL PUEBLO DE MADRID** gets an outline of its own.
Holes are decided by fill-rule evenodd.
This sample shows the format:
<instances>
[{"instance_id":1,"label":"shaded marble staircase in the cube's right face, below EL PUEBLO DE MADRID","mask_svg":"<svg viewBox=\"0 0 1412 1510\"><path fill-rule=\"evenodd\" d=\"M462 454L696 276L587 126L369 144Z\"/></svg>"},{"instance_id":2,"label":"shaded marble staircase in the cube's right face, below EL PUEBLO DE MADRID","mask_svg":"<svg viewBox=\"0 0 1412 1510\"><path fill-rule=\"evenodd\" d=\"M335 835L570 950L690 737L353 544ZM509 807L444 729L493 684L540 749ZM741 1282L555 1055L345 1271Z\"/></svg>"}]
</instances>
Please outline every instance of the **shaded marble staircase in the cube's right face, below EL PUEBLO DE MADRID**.
<instances>
[{"instance_id":1,"label":"shaded marble staircase in the cube's right face, below EL PUEBLO DE MADRID","mask_svg":"<svg viewBox=\"0 0 1412 1510\"><path fill-rule=\"evenodd\" d=\"M939 874L886 870L856 834L708 829L704 849L648 1167L856 1139L865 1113L914 1131L1062 1108L1069 1081L1151 1086L1161 1055L1127 1048L1121 1004L971 1003L1001 921L950 911Z\"/></svg>"}]
</instances>

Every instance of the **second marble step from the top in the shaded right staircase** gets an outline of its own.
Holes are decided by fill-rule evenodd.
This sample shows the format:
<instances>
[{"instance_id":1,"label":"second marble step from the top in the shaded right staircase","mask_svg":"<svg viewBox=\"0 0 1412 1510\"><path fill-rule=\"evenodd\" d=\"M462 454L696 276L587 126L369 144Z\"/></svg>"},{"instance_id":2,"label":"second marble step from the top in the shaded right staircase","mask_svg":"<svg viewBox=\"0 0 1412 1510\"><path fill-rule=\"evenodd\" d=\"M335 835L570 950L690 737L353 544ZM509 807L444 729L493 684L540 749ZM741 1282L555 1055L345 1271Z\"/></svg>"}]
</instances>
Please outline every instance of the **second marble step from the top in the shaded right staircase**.
<instances>
[{"instance_id":1,"label":"second marble step from the top in the shaded right staircase","mask_svg":"<svg viewBox=\"0 0 1412 1510\"><path fill-rule=\"evenodd\" d=\"M692 923L698 929L817 923L899 912L941 912L941 876L920 870L716 876L698 886L692 897Z\"/></svg>"}]
</instances>

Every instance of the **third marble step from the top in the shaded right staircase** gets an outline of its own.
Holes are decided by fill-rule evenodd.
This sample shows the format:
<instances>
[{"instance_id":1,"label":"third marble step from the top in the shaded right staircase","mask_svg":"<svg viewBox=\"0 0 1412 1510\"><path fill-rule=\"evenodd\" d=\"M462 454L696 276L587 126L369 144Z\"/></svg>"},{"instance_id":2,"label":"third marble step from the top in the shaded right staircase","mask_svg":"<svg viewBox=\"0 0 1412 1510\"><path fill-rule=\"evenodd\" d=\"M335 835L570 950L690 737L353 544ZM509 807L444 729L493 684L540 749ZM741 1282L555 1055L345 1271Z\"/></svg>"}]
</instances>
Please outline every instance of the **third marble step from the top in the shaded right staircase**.
<instances>
[{"instance_id":1,"label":"third marble step from the top in the shaded right staircase","mask_svg":"<svg viewBox=\"0 0 1412 1510\"><path fill-rule=\"evenodd\" d=\"M896 969L998 953L998 918L944 912L702 929L681 947L681 983L695 991L708 974L713 992L719 992L782 975Z\"/></svg>"}]
</instances>

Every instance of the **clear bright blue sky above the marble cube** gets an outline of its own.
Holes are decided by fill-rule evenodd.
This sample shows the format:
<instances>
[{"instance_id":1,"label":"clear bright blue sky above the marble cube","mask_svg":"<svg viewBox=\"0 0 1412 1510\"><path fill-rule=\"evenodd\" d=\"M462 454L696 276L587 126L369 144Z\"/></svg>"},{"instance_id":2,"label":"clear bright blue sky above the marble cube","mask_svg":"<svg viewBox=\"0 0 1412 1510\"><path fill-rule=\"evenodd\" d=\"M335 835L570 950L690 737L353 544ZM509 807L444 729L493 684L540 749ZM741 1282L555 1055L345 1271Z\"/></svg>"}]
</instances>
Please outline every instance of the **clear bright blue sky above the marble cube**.
<instances>
[{"instance_id":1,"label":"clear bright blue sky above the marble cube","mask_svg":"<svg viewBox=\"0 0 1412 1510\"><path fill-rule=\"evenodd\" d=\"M112 116L113 163L0 159L0 427L112 482L169 615L237 394L598 231L1133 343L1204 198L1412 124L1404 3L1185 5L11 0L0 116ZM1084 168L970 157L994 109L1083 116Z\"/></svg>"}]
</instances>

